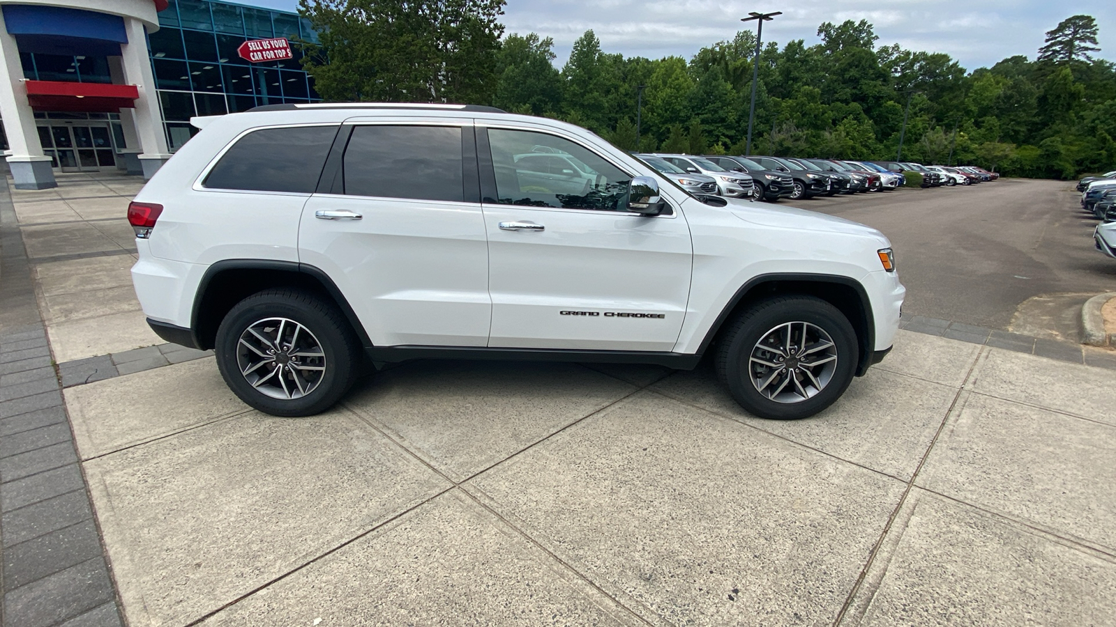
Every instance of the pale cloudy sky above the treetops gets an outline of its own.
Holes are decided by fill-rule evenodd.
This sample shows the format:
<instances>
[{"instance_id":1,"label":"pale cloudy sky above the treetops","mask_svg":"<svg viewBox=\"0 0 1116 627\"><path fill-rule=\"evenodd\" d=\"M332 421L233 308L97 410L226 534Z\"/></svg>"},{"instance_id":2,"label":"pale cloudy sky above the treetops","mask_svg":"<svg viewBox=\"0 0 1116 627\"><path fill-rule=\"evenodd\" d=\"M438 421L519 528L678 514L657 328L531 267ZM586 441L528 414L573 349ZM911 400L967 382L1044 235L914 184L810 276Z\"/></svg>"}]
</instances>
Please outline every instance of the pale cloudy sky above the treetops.
<instances>
[{"instance_id":1,"label":"pale cloudy sky above the treetops","mask_svg":"<svg viewBox=\"0 0 1116 627\"><path fill-rule=\"evenodd\" d=\"M297 0L239 0L261 7L296 10ZM1000 59L1026 55L1033 59L1045 33L1079 13L1093 16L1099 27L1099 58L1116 61L1116 1L1045 0L789 0L747 2L713 0L508 0L502 22L506 33L537 32L555 40L556 65L570 47L593 29L606 52L625 57L689 59L700 48L732 39L749 11L783 15L763 25L763 41L818 41L825 21L866 19L879 36L877 45L899 44L908 50L946 52L962 67L990 67Z\"/></svg>"}]
</instances>

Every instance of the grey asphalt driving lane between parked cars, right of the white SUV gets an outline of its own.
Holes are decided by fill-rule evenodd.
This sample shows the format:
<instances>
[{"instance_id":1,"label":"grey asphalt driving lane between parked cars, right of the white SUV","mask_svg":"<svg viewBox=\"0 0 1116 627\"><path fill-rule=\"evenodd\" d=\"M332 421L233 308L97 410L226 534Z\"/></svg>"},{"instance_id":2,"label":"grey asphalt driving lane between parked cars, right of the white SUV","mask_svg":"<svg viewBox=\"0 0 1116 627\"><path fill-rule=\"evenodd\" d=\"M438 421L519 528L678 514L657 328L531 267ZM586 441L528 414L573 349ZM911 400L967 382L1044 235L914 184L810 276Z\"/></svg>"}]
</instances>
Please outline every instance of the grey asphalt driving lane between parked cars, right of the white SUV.
<instances>
[{"instance_id":1,"label":"grey asphalt driving lane between parked cars, right of the white SUV","mask_svg":"<svg viewBox=\"0 0 1116 627\"><path fill-rule=\"evenodd\" d=\"M1007 179L798 205L892 240L904 312L1077 343L1081 305L1116 286L1079 199L1072 182Z\"/></svg>"}]
</instances>

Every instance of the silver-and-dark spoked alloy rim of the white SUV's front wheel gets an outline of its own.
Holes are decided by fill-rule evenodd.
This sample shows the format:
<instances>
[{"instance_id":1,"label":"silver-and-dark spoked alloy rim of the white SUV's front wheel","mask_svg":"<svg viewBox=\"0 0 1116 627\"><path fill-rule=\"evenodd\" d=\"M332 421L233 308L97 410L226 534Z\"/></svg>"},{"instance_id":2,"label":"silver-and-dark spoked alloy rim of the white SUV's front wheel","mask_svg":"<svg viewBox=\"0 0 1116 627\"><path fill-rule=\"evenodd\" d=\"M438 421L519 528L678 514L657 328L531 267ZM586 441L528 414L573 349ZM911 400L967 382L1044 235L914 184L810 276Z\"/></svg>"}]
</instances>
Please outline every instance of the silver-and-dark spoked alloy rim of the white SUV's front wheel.
<instances>
[{"instance_id":1,"label":"silver-and-dark spoked alloy rim of the white SUV's front wheel","mask_svg":"<svg viewBox=\"0 0 1116 627\"><path fill-rule=\"evenodd\" d=\"M837 345L821 327L785 322L763 334L748 359L748 375L763 397L801 403L819 394L837 369Z\"/></svg>"}]
</instances>

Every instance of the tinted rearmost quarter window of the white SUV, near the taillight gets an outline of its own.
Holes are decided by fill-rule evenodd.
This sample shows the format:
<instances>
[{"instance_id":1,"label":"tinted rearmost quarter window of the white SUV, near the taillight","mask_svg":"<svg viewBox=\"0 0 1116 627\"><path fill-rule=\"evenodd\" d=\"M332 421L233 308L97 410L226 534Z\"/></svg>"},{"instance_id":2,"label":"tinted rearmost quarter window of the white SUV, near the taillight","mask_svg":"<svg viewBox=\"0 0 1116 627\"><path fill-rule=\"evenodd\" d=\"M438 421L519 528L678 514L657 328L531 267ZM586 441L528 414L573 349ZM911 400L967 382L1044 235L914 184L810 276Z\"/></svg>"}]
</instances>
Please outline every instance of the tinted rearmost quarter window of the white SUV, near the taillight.
<instances>
[{"instance_id":1,"label":"tinted rearmost quarter window of the white SUV, near the taillight","mask_svg":"<svg viewBox=\"0 0 1116 627\"><path fill-rule=\"evenodd\" d=\"M262 128L241 137L202 182L218 190L314 193L336 126Z\"/></svg>"}]
</instances>

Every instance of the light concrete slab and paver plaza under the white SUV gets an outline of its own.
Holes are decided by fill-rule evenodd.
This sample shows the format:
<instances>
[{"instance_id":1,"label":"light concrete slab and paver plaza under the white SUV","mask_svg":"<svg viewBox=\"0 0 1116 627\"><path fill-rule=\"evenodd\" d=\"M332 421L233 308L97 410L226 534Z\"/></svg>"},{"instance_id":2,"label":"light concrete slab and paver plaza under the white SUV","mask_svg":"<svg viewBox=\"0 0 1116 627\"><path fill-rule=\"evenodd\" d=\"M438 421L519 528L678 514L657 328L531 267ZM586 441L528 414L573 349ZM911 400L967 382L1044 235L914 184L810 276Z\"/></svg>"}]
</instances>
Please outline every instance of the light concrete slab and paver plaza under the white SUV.
<instances>
[{"instance_id":1,"label":"light concrete slab and paver plaza under the white SUV","mask_svg":"<svg viewBox=\"0 0 1116 627\"><path fill-rule=\"evenodd\" d=\"M0 402L4 625L1116 616L1116 399L1098 392L1112 369L1020 351L1014 336L901 330L837 404L797 422L749 416L708 365L471 361L398 366L327 414L276 418L235 399L212 357L122 340L123 303L56 338L67 301L48 292L123 300L121 269L75 264L86 273L65 287L49 264L68 261L32 253L47 250L30 243L42 216L21 194L9 213L30 260L20 279L0 233L0 293L28 283L46 326L29 328L26 306L0 316L0 366L41 370L10 367L38 350L59 367L55 392ZM126 241L62 242L90 266L129 255Z\"/></svg>"}]
</instances>

